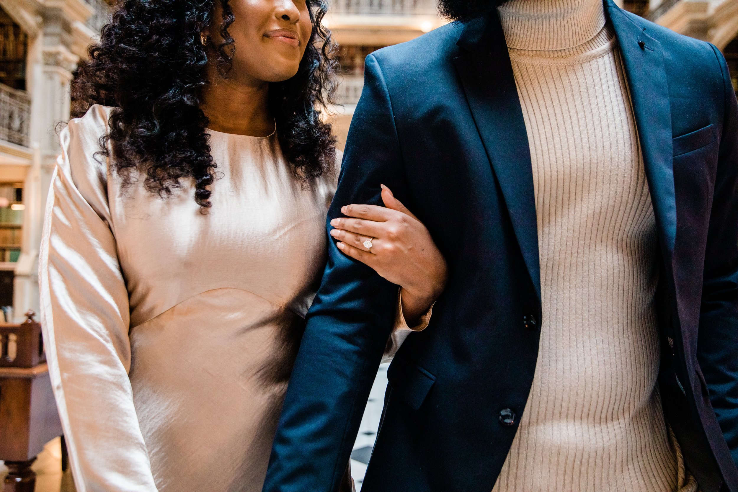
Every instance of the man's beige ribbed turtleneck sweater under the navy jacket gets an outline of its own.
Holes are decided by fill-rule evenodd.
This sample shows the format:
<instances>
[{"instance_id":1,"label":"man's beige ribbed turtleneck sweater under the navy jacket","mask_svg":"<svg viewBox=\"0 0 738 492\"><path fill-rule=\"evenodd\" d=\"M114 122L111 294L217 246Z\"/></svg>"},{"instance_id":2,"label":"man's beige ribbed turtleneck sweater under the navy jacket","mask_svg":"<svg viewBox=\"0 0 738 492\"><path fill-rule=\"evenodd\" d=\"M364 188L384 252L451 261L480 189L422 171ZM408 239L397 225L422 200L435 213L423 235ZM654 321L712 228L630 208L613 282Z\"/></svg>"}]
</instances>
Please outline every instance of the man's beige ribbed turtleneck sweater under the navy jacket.
<instances>
[{"instance_id":1,"label":"man's beige ribbed turtleneck sweater under the navy jacket","mask_svg":"<svg viewBox=\"0 0 738 492\"><path fill-rule=\"evenodd\" d=\"M602 1L499 11L531 148L543 316L494 492L694 492L656 385L655 218Z\"/></svg>"}]
</instances>

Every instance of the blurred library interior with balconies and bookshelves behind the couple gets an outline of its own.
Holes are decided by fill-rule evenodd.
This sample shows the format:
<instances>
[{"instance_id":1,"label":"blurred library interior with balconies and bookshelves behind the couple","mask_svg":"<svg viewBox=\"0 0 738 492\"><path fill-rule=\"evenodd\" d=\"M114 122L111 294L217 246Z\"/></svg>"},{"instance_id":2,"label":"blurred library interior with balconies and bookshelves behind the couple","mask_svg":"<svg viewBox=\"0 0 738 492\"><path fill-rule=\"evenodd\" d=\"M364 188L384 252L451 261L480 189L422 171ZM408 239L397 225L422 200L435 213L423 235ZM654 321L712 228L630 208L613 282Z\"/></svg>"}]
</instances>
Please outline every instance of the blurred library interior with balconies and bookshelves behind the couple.
<instances>
[{"instance_id":1,"label":"blurred library interior with balconies and bookshelves behind the couple","mask_svg":"<svg viewBox=\"0 0 738 492\"><path fill-rule=\"evenodd\" d=\"M106 22L113 3L0 0L0 321L4 322L0 326L0 384L10 377L12 371L8 370L27 370L24 377L31 382L23 395L38 391L33 386L38 381L44 384L44 375L34 374L33 367L18 367L19 356L13 350L21 328L35 330L30 324L33 313L38 313L38 247L46 190L59 151L57 128L69 119L69 83L77 63L86 58L86 48ZM715 44L725 53L734 89L738 90L738 0L620 3L651 21ZM339 148L345 144L362 91L366 55L409 41L444 22L438 16L435 0L330 0L325 24L340 45L337 58L341 83L339 104L329 110ZM43 351L38 343L35 347ZM11 355L13 360L8 362ZM35 362L41 360L38 355ZM4 391L0 398L7 401L11 397ZM24 461L9 457L10 451L3 445L15 430L0 423L0 461ZM44 455L46 461L38 460L35 469L44 468L44 463L52 460L49 456L55 457L52 462L63 460L58 442L46 445L52 446L52 451ZM34 457L44 443L29 441L23 453ZM61 471L46 471L39 474L37 490L58 491L62 482Z\"/></svg>"}]
</instances>

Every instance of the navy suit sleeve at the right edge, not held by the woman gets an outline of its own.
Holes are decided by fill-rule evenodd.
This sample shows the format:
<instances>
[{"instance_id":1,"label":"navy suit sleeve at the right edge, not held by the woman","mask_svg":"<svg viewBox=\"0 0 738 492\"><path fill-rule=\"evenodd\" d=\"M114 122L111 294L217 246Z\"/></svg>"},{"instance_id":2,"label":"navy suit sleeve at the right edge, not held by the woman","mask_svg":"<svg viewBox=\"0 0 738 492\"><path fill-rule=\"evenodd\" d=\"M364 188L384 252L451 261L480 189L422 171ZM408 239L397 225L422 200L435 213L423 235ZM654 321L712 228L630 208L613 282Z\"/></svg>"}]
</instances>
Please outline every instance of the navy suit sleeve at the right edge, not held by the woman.
<instances>
[{"instance_id":1,"label":"navy suit sleeve at the right edge, not held by the woman","mask_svg":"<svg viewBox=\"0 0 738 492\"><path fill-rule=\"evenodd\" d=\"M697 359L738 463L738 105L723 55L725 116L708 229Z\"/></svg>"}]
</instances>

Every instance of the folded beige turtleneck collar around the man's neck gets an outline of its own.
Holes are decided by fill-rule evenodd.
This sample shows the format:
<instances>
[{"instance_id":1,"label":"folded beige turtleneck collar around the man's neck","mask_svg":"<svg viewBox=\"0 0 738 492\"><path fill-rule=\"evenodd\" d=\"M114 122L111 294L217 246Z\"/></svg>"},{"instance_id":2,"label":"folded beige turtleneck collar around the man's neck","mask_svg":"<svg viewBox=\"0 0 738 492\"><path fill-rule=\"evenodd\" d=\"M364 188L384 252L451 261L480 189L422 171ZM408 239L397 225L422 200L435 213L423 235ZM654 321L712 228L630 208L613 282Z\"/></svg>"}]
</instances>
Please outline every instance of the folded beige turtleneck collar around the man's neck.
<instances>
[{"instance_id":1,"label":"folded beige turtleneck collar around the man's neck","mask_svg":"<svg viewBox=\"0 0 738 492\"><path fill-rule=\"evenodd\" d=\"M509 0L497 10L508 47L534 51L584 44L606 20L602 0Z\"/></svg>"}]
</instances>

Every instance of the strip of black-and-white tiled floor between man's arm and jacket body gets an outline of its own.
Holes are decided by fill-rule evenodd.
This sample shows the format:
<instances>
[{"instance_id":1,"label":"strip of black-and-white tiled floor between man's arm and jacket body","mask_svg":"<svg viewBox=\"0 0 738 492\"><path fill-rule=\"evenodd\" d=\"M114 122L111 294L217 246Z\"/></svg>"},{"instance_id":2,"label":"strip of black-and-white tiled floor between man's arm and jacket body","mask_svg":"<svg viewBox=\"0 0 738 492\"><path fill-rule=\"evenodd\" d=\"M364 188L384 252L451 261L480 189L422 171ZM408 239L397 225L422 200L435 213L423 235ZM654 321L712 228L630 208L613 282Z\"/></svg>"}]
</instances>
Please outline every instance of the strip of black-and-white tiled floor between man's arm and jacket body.
<instances>
[{"instance_id":1,"label":"strip of black-and-white tiled floor between man's arm and jacket body","mask_svg":"<svg viewBox=\"0 0 738 492\"><path fill-rule=\"evenodd\" d=\"M390 364L382 364L376 373L374 385L371 388L369 401L364 410L359 434L356 436L354 451L351 452L351 476L354 477L356 492L362 488L362 480L367 469L367 463L371 450L376 440L376 429L379 428L379 418L382 417L384 406L384 389L387 388L387 367Z\"/></svg>"}]
</instances>

